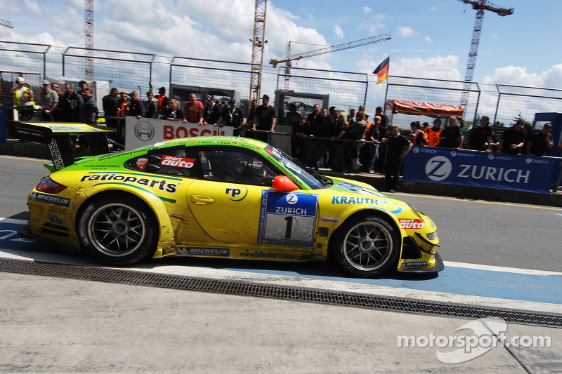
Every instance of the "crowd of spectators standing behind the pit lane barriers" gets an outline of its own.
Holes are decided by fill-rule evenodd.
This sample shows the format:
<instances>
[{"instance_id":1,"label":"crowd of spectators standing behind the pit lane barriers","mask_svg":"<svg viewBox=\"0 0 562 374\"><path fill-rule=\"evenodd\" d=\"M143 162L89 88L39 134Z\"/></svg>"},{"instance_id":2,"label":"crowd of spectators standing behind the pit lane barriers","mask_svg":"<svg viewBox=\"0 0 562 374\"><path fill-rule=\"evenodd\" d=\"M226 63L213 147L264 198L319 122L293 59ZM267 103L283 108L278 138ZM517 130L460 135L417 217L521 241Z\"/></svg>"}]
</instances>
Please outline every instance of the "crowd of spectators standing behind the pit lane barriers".
<instances>
[{"instance_id":1,"label":"crowd of spectators standing behind the pit lane barriers","mask_svg":"<svg viewBox=\"0 0 562 374\"><path fill-rule=\"evenodd\" d=\"M58 91L56 82L51 85L49 81L43 81L42 84L40 109L44 121L96 123L96 98L86 81L79 82L79 91L74 91L72 84L65 84L64 93ZM30 119L34 98L25 79L18 78L11 93L20 119ZM164 87L158 89L158 95L148 91L146 98L143 102L137 91L126 93L117 88L111 88L103 97L105 124L115 128L117 142L124 144L124 121L120 120L123 116L231 126L235 135L265 142L270 139L270 133L275 133L277 114L268 95L260 98L261 105L252 100L248 118L234 99L221 108L213 95L207 95L204 105L195 93L191 93L181 108L178 100L166 96ZM301 114L296 105L289 104L289 112L284 118L282 124L292 128L290 145L294 158L316 169L385 173L388 189L396 189L393 181L398 178L401 163L412 145L532 156L543 156L553 146L550 123L544 125L542 131L532 131L530 122L523 119L517 119L501 137L496 138L488 116L482 116L466 133L462 131L464 121L455 116L444 119L444 128L441 128L443 119L437 118L431 127L427 122L414 121L409 132L403 131L399 126L390 126L381 107L377 107L371 121L364 105L346 113L336 107L320 108L317 104L311 113Z\"/></svg>"}]
</instances>

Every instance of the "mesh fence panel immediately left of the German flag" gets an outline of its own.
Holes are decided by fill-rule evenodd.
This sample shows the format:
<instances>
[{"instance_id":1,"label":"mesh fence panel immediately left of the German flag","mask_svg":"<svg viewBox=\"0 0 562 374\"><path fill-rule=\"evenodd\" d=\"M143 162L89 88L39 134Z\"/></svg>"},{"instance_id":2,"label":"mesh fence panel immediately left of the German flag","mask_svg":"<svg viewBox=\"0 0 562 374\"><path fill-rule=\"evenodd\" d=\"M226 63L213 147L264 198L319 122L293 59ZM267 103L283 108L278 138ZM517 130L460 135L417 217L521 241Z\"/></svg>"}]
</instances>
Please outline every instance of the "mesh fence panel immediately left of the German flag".
<instances>
[{"instance_id":1,"label":"mesh fence panel immediately left of the German flag","mask_svg":"<svg viewBox=\"0 0 562 374\"><path fill-rule=\"evenodd\" d=\"M365 105L369 85L367 74L285 67L277 70L277 90L329 95L329 105L338 109Z\"/></svg>"}]
</instances>

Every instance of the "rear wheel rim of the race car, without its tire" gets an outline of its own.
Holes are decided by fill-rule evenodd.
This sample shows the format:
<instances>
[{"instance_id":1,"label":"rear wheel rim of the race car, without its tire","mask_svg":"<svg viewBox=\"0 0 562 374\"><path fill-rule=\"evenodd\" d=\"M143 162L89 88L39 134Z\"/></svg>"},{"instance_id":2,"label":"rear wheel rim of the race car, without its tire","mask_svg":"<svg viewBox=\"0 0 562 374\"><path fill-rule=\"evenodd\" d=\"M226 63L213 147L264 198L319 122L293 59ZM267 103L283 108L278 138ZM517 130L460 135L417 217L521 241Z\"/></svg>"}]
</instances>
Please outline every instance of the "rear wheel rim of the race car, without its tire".
<instances>
[{"instance_id":1,"label":"rear wheel rim of the race car, without its tire","mask_svg":"<svg viewBox=\"0 0 562 374\"><path fill-rule=\"evenodd\" d=\"M142 245L146 225L141 214L131 206L111 203L92 213L88 221L88 236L101 253L122 257Z\"/></svg>"}]
</instances>

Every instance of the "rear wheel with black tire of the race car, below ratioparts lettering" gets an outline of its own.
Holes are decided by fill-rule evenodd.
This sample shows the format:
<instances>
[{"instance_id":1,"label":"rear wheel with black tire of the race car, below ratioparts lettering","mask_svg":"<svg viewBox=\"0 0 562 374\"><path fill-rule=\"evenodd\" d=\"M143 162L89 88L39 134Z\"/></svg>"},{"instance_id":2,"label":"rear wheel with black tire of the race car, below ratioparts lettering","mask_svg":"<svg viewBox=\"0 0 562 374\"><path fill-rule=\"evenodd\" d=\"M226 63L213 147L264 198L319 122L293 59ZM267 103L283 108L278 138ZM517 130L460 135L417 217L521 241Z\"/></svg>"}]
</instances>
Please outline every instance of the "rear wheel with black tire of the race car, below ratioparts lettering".
<instances>
[{"instance_id":1,"label":"rear wheel with black tire of the race car, below ratioparts lettering","mask_svg":"<svg viewBox=\"0 0 562 374\"><path fill-rule=\"evenodd\" d=\"M150 208L124 195L89 202L77 232L86 251L111 265L132 265L147 258L155 252L158 239Z\"/></svg>"}]
</instances>

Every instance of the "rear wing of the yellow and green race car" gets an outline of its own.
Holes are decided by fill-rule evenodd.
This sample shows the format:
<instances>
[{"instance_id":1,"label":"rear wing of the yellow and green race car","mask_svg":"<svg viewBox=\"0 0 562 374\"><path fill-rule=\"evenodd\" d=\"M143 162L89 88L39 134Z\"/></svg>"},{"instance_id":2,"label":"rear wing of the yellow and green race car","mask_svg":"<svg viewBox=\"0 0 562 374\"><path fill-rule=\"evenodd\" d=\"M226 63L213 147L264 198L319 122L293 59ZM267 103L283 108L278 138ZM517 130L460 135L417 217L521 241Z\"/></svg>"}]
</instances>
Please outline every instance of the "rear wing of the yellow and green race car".
<instances>
[{"instance_id":1,"label":"rear wing of the yellow and green race car","mask_svg":"<svg viewBox=\"0 0 562 374\"><path fill-rule=\"evenodd\" d=\"M107 133L115 133L112 128L69 122L22 122L6 121L8 134L12 138L48 145L55 170L74 163L74 152L70 135L84 135L91 154L109 153Z\"/></svg>"}]
</instances>

